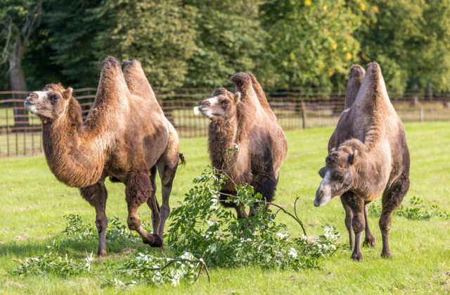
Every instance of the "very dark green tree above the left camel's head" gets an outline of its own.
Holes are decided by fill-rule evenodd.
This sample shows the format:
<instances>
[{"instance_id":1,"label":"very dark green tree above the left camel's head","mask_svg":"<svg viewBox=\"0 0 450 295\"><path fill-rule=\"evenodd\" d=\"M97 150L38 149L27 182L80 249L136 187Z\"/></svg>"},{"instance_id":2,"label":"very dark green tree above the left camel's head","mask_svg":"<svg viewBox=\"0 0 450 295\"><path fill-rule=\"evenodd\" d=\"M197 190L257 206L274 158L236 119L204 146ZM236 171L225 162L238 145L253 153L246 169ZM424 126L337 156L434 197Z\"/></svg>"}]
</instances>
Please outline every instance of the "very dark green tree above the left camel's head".
<instances>
[{"instance_id":1,"label":"very dark green tree above the left camel's head","mask_svg":"<svg viewBox=\"0 0 450 295\"><path fill-rule=\"evenodd\" d=\"M58 67L57 82L71 87L96 87L100 59L93 41L98 32L104 29L104 22L95 18L90 11L97 8L101 0L47 2L49 5L46 7L48 10L42 30L48 31L48 45L42 46L49 46L53 52L46 63Z\"/></svg>"}]
</instances>

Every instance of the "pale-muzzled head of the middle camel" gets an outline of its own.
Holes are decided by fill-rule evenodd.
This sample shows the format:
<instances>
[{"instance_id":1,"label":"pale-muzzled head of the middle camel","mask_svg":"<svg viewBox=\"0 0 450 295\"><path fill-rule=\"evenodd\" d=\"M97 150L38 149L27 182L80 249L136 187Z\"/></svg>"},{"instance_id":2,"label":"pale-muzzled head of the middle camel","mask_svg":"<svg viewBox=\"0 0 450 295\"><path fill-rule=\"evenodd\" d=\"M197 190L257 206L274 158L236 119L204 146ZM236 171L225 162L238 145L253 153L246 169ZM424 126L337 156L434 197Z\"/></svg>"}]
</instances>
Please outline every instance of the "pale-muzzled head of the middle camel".
<instances>
[{"instance_id":1,"label":"pale-muzzled head of the middle camel","mask_svg":"<svg viewBox=\"0 0 450 295\"><path fill-rule=\"evenodd\" d=\"M236 115L240 93L232 94L225 88L217 89L210 99L205 99L198 111L211 120L229 120Z\"/></svg>"}]
</instances>

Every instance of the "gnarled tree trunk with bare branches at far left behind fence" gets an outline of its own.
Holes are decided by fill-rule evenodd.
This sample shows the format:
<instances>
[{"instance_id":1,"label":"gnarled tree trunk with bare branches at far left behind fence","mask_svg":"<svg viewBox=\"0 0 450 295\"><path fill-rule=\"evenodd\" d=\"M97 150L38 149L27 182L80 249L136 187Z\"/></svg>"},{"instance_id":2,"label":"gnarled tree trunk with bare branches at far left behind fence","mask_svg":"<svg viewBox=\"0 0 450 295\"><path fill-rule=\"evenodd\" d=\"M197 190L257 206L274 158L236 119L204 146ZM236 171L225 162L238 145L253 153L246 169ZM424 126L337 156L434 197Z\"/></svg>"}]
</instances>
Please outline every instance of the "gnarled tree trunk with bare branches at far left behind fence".
<instances>
[{"instance_id":1,"label":"gnarled tree trunk with bare branches at far left behind fence","mask_svg":"<svg viewBox=\"0 0 450 295\"><path fill-rule=\"evenodd\" d=\"M26 91L22 60L28 41L39 25L42 13L42 0L2 1L0 4L1 39L5 45L2 61L9 63L11 90ZM25 99L25 94L13 94L14 99ZM21 103L15 103L14 127L27 127L27 111Z\"/></svg>"}]
</instances>

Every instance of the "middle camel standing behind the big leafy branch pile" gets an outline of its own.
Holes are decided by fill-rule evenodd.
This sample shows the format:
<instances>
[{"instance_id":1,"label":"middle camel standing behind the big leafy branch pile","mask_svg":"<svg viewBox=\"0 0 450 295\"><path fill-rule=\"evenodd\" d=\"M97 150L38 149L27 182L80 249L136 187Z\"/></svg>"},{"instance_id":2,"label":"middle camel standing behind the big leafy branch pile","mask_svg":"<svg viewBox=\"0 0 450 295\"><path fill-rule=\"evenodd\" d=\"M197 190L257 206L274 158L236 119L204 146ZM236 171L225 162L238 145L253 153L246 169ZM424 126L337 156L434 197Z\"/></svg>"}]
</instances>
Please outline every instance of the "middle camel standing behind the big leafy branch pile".
<instances>
[{"instance_id":1,"label":"middle camel standing behind the big leafy branch pile","mask_svg":"<svg viewBox=\"0 0 450 295\"><path fill-rule=\"evenodd\" d=\"M221 204L235 208L238 218L245 218L245 208L226 202L226 194L236 194L234 183L248 183L271 202L288 142L256 78L251 73L238 73L231 80L235 94L219 88L198 110L211 120L208 151L212 165L230 178L222 186ZM239 150L230 154L227 150L234 149L234 144ZM250 215L254 209L250 208Z\"/></svg>"}]
</instances>

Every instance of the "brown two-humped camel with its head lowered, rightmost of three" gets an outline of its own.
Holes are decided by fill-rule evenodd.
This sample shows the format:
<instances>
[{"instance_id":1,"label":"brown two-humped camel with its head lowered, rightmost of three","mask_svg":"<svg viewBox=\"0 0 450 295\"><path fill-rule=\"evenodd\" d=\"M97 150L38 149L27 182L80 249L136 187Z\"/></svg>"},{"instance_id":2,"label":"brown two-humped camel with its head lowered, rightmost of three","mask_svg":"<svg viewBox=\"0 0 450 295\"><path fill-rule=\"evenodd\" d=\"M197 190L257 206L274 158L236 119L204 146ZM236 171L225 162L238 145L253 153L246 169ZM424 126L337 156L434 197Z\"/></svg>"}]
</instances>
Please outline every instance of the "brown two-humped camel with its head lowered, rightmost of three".
<instances>
[{"instance_id":1,"label":"brown two-humped camel with its head lowered, rightmost of three","mask_svg":"<svg viewBox=\"0 0 450 295\"><path fill-rule=\"evenodd\" d=\"M326 166L319 171L323 180L314 206L340 196L352 258L361 261L364 230L364 243L375 246L368 227L368 203L383 193L381 256L390 258L391 215L409 189L409 150L403 123L387 96L378 63L369 63L366 73L359 65L352 67L345 107L328 143Z\"/></svg>"}]
</instances>

